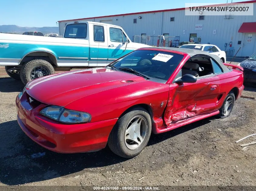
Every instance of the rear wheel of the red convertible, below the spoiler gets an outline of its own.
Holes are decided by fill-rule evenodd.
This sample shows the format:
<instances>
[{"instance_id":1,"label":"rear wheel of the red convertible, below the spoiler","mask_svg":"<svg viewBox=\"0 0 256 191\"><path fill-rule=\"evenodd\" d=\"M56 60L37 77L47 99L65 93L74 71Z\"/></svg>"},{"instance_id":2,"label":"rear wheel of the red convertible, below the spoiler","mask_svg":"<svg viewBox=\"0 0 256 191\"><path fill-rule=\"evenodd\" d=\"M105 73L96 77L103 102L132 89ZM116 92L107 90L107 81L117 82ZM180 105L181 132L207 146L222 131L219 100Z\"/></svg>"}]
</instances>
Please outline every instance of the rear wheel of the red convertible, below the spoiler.
<instances>
[{"instance_id":1,"label":"rear wheel of the red convertible, below the spoiler","mask_svg":"<svg viewBox=\"0 0 256 191\"><path fill-rule=\"evenodd\" d=\"M231 91L228 93L221 108L219 109L220 111L219 116L221 118L230 116L230 113L234 107L234 101L235 101L235 94Z\"/></svg>"}]
</instances>

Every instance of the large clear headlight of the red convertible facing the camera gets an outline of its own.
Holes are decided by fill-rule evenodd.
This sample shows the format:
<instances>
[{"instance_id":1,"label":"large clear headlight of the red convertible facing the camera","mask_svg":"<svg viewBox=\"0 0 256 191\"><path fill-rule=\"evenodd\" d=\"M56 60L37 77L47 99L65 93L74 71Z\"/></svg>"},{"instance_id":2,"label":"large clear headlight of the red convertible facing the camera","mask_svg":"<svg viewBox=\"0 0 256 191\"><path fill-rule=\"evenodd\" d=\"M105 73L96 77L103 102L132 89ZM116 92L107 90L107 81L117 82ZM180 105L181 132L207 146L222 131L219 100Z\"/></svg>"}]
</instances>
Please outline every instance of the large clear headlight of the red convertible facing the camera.
<instances>
[{"instance_id":1,"label":"large clear headlight of the red convertible facing the camera","mask_svg":"<svg viewBox=\"0 0 256 191\"><path fill-rule=\"evenodd\" d=\"M61 123L86 123L91 120L91 115L89 113L65 110L58 106L45 107L40 113Z\"/></svg>"}]
</instances>

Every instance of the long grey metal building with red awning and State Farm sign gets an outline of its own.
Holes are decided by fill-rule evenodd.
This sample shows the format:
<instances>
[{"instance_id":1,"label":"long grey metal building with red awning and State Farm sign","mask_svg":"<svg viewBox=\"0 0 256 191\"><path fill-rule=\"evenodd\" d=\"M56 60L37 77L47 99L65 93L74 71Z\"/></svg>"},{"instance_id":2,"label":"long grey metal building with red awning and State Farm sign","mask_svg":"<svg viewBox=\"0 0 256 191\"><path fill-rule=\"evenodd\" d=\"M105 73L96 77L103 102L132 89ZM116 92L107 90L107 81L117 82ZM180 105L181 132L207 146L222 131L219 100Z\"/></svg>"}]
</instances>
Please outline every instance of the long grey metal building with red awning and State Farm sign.
<instances>
[{"instance_id":1,"label":"long grey metal building with red awning and State Farm sign","mask_svg":"<svg viewBox=\"0 0 256 191\"><path fill-rule=\"evenodd\" d=\"M131 40L135 36L164 35L183 42L201 37L202 44L217 45L227 56L234 56L240 47L236 56L251 56L256 52L256 0L243 3L253 3L253 16L186 16L185 8L176 8L58 21L59 33L63 35L69 22L94 21L123 27ZM145 40L141 38L139 43Z\"/></svg>"}]
</instances>

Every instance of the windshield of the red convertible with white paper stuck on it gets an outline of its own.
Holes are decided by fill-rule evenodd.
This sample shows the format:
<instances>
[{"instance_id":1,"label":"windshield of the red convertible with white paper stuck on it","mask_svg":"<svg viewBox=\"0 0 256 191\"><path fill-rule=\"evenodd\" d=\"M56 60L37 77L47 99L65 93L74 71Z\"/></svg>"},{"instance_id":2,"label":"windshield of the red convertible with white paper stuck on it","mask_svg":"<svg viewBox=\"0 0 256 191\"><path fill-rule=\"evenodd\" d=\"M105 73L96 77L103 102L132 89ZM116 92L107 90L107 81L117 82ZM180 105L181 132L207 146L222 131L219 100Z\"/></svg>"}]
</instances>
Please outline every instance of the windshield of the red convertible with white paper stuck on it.
<instances>
[{"instance_id":1,"label":"windshield of the red convertible with white paper stuck on it","mask_svg":"<svg viewBox=\"0 0 256 191\"><path fill-rule=\"evenodd\" d=\"M183 57L183 55L169 52L136 50L118 59L112 65L121 72L129 72L122 68L131 68L147 75L152 81L166 83Z\"/></svg>"}]
</instances>

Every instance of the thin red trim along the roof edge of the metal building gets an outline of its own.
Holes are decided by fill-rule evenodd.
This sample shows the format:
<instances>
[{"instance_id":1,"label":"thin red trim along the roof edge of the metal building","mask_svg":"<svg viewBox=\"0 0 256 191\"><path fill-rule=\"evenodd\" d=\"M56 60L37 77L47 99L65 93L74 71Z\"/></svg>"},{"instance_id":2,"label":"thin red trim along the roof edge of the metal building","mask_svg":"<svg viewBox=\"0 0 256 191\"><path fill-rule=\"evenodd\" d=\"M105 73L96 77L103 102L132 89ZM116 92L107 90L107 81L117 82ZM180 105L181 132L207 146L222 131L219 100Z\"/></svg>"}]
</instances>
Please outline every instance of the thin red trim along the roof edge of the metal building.
<instances>
[{"instance_id":1,"label":"thin red trim along the roof edge of the metal building","mask_svg":"<svg viewBox=\"0 0 256 191\"><path fill-rule=\"evenodd\" d=\"M256 3L256 0L235 2L235 3ZM62 21L58 21L58 22L73 21L73 20L84 20L84 19L94 19L94 18L103 18L103 17L114 17L114 16L125 16L125 15L132 15L132 14L157 13L157 12L165 12L165 11L179 11L179 10L185 10L185 8L163 9L163 10L157 10L157 11L144 11L144 12L126 13L126 14L113 14L113 15L106 15L106 16L100 16L100 17L88 17L88 18L80 18L80 19L62 20Z\"/></svg>"}]
</instances>

